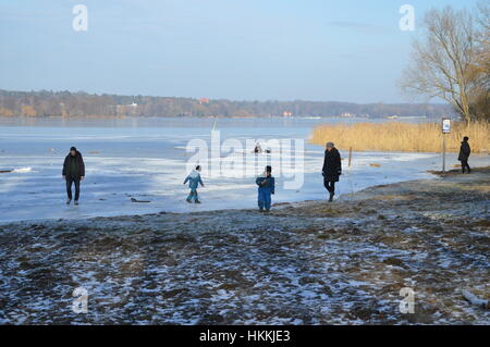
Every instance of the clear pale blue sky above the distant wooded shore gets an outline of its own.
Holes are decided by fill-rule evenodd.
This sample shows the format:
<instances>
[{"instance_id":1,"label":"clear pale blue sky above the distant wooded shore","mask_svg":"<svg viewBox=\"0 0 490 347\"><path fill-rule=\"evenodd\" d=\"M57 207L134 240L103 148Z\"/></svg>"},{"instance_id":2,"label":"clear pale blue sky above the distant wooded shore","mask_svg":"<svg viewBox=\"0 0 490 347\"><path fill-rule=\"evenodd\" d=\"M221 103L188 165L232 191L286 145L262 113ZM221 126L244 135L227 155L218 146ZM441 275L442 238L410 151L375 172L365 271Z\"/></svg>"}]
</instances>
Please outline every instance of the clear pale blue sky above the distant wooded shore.
<instances>
[{"instance_id":1,"label":"clear pale blue sky above the distant wooded shore","mask_svg":"<svg viewBox=\"0 0 490 347\"><path fill-rule=\"evenodd\" d=\"M233 100L407 101L424 12L466 0L0 0L0 88ZM415 8L415 32L399 28ZM72 28L75 4L88 30Z\"/></svg>"}]
</instances>

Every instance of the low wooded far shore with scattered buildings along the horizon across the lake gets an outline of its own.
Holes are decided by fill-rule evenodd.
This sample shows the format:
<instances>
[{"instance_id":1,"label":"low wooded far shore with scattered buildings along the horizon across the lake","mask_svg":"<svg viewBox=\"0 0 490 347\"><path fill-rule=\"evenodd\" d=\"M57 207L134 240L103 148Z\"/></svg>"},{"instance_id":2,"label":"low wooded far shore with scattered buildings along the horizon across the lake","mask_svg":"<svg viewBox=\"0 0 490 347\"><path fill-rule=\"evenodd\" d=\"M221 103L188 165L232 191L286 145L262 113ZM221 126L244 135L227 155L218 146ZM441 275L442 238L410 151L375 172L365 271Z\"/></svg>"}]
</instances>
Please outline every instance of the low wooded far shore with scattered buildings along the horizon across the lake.
<instances>
[{"instance_id":1,"label":"low wooded far shore with scattered buildings along the horizon across the lake","mask_svg":"<svg viewBox=\"0 0 490 347\"><path fill-rule=\"evenodd\" d=\"M1 116L455 116L450 104L231 101L0 89Z\"/></svg>"}]
</instances>

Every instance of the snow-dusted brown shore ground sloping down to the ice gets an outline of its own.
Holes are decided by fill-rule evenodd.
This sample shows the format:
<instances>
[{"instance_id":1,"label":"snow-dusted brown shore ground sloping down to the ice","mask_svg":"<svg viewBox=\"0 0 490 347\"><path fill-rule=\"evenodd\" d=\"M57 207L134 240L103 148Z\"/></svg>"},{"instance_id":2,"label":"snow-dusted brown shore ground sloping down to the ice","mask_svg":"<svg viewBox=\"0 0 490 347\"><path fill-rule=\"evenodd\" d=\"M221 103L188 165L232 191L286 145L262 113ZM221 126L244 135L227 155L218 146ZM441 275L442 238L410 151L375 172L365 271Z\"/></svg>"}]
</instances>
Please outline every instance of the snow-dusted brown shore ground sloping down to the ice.
<instances>
[{"instance_id":1,"label":"snow-dusted brown shore ground sloping down to the ice","mask_svg":"<svg viewBox=\"0 0 490 347\"><path fill-rule=\"evenodd\" d=\"M0 323L489 324L490 169L334 203L0 225ZM88 292L88 313L72 292ZM399 310L415 292L415 313Z\"/></svg>"}]
</instances>

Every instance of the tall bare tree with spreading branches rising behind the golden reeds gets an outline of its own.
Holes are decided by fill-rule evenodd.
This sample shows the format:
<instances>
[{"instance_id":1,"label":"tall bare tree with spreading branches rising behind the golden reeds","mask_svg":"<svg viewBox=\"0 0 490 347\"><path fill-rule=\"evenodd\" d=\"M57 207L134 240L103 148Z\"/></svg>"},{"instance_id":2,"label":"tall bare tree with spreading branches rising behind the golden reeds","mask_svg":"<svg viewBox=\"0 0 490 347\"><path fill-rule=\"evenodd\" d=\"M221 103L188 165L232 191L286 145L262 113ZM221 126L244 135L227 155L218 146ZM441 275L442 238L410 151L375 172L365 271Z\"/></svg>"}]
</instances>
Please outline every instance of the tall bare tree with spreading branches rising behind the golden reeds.
<instances>
[{"instance_id":1,"label":"tall bare tree with spreading branches rising behind the golden reeds","mask_svg":"<svg viewBox=\"0 0 490 347\"><path fill-rule=\"evenodd\" d=\"M424 18L424 37L413 44L414 59L400 79L411 95L439 97L469 122L469 73L475 59L474 20L466 10L430 10Z\"/></svg>"}]
</instances>

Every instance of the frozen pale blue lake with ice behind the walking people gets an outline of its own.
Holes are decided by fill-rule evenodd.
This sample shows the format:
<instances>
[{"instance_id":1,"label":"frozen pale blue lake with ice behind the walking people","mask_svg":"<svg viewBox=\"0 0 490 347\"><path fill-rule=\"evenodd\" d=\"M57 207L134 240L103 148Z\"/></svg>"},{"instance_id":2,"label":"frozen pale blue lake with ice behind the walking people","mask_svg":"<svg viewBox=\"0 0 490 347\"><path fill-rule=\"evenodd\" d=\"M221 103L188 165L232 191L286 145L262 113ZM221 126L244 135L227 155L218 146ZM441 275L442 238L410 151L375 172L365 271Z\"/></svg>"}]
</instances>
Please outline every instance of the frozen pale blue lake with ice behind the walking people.
<instances>
[{"instance_id":1,"label":"frozen pale blue lake with ice behind the walking people","mask_svg":"<svg viewBox=\"0 0 490 347\"><path fill-rule=\"evenodd\" d=\"M356 121L365 120L348 120ZM14 170L0 174L0 222L256 208L255 171L249 169L261 170L268 163L274 166L277 179L273 202L326 199L321 176L323 148L309 145L307 138L315 125L327 122L346 120L0 119L0 170ZM219 144L232 139L228 144L242 144L244 148L213 153L212 129L219 132ZM270 147L272 153L252 154L245 145L255 139L262 147ZM294 141L290 151L274 147L273 140L290 139L304 140L303 165L294 165ZM201 174L206 187L198 190L201 205L185 202L188 188L182 184L188 164L196 162L194 153L186 151L191 140L209 145L209 168L205 165ZM264 146L267 140L272 140L272 145ZM61 169L71 146L78 148L86 165L78 207L64 203ZM338 194L429 177L427 170L441 169L440 153L354 152L350 169L347 151L341 149L341 153L343 175ZM221 163L219 173L211 172L213 160L224 157L230 162ZM278 157L286 164L291 159L291 165L281 161L278 168ZM241 170L236 162L243 163ZM450 153L448 168L455 163L456 154ZM470 158L470 165L488 164L488 156ZM299 176L301 186L284 186ZM131 198L150 202L132 202Z\"/></svg>"}]
</instances>

